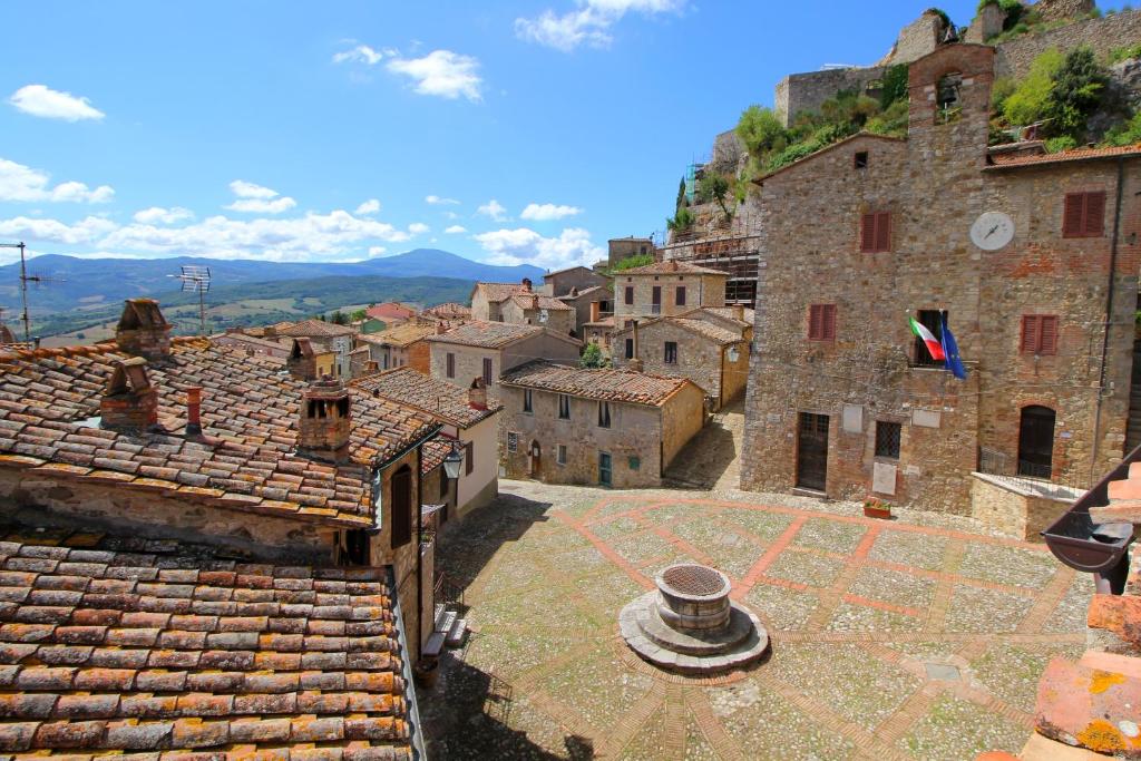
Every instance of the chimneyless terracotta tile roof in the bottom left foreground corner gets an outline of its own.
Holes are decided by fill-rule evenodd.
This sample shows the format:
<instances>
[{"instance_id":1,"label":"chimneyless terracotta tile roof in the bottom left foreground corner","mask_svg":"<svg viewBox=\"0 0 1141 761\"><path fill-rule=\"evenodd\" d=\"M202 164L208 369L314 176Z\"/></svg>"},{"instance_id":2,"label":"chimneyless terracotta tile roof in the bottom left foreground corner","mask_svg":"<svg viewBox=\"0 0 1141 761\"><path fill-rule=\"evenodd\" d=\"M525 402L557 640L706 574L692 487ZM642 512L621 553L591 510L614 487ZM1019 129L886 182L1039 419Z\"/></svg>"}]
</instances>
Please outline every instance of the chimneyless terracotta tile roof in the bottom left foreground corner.
<instances>
[{"instance_id":1,"label":"chimneyless terracotta tile roof in the bottom left foreground corner","mask_svg":"<svg viewBox=\"0 0 1141 761\"><path fill-rule=\"evenodd\" d=\"M412 759L385 569L70 529L0 537L0 752Z\"/></svg>"}]
</instances>

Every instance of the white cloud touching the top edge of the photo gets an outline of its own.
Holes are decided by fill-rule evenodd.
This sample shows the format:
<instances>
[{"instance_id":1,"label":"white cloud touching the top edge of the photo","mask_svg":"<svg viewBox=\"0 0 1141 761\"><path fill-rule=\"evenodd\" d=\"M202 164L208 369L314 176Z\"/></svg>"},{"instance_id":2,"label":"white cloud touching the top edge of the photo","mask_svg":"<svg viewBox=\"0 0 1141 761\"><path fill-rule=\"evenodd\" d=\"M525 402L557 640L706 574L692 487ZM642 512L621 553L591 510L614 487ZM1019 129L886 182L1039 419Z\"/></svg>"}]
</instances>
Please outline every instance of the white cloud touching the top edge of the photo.
<instances>
[{"instance_id":1,"label":"white cloud touching the top edge of the photo","mask_svg":"<svg viewBox=\"0 0 1141 761\"><path fill-rule=\"evenodd\" d=\"M529 42L569 52L581 44L602 48L613 41L610 27L628 13L653 16L681 10L686 0L580 0L561 16L544 10L537 18L516 18L515 33Z\"/></svg>"}]
</instances>

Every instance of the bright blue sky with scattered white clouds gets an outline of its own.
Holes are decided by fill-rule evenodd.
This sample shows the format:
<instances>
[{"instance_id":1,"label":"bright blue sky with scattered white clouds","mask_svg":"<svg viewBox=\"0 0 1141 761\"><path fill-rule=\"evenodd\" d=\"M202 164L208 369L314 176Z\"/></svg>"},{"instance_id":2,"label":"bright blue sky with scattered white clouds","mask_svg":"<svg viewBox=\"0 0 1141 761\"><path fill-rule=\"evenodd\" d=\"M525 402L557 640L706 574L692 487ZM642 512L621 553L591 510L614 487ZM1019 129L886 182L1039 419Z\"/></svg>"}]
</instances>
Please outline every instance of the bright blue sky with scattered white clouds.
<instances>
[{"instance_id":1,"label":"bright blue sky with scattered white clouds","mask_svg":"<svg viewBox=\"0 0 1141 761\"><path fill-rule=\"evenodd\" d=\"M661 229L685 165L783 75L873 63L925 7L2 3L0 241L592 261Z\"/></svg>"}]
</instances>

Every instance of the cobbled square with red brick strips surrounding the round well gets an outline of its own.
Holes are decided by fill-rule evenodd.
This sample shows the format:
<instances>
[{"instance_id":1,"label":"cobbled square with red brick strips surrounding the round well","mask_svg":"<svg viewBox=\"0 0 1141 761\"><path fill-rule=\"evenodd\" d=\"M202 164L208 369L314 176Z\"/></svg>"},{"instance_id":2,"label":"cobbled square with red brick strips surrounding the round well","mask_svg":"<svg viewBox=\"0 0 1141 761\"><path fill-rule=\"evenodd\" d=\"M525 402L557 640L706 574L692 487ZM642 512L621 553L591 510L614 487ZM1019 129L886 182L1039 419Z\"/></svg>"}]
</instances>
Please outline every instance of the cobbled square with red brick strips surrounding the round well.
<instances>
[{"instance_id":1,"label":"cobbled square with red brick strips surrounding the round well","mask_svg":"<svg viewBox=\"0 0 1141 761\"><path fill-rule=\"evenodd\" d=\"M880 521L798 497L503 488L513 494L439 549L472 634L421 697L434 758L1017 752L1046 662L1084 649L1089 577L1042 545L970 533L965 519ZM770 657L694 679L630 653L617 612L685 559L729 575L768 626Z\"/></svg>"}]
</instances>

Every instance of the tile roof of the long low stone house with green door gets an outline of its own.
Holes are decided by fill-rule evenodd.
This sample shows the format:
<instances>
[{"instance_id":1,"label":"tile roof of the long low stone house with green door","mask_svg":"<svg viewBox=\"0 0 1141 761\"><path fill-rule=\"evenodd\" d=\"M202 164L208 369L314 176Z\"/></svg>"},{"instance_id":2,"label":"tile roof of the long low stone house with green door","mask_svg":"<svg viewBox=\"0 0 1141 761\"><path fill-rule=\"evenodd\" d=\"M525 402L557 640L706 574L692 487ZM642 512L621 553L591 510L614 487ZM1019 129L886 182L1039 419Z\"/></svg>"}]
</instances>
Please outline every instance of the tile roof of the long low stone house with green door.
<instances>
[{"instance_id":1,"label":"tile roof of the long low stone house with green door","mask_svg":"<svg viewBox=\"0 0 1141 761\"><path fill-rule=\"evenodd\" d=\"M626 370L570 367L545 359L528 362L500 379L503 386L652 406L661 405L670 395L689 382L685 378L662 378Z\"/></svg>"}]
</instances>

